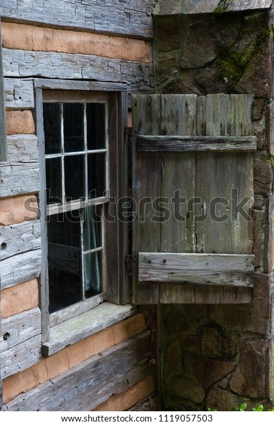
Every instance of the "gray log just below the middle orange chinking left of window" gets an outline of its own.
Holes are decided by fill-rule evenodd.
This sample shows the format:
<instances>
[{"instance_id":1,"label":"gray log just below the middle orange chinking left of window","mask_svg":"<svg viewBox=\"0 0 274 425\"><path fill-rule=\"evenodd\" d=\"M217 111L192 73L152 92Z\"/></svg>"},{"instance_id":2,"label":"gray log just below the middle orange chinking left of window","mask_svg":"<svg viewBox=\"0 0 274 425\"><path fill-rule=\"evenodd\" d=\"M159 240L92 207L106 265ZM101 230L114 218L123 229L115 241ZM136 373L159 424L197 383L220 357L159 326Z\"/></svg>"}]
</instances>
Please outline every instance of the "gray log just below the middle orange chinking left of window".
<instances>
[{"instance_id":1,"label":"gray log just below the middle orange chinking left of window","mask_svg":"<svg viewBox=\"0 0 274 425\"><path fill-rule=\"evenodd\" d=\"M0 245L0 260L40 248L40 221L30 220L12 226L0 226Z\"/></svg>"}]
</instances>

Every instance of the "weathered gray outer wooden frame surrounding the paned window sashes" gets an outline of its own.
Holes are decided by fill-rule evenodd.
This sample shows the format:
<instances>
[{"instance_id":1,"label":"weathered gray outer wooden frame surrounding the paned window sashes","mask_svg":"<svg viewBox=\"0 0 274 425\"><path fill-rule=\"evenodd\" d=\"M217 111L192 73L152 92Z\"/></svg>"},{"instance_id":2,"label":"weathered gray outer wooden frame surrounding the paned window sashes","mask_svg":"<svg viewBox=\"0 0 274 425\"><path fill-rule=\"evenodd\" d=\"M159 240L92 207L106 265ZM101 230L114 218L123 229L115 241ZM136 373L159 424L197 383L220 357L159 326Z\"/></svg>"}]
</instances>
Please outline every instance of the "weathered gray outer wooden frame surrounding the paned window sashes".
<instances>
[{"instance_id":1,"label":"weathered gray outer wooden frame surrounding the paned window sashes","mask_svg":"<svg viewBox=\"0 0 274 425\"><path fill-rule=\"evenodd\" d=\"M47 207L45 199L45 138L42 119L42 101L44 90L62 90L62 93L73 93L75 90L90 93L108 93L109 98L109 174L110 197L119 199L127 196L127 141L125 126L127 123L127 93L125 84L105 82L79 82L67 80L34 80L36 99L36 125L38 136L38 150L40 163L40 222L42 232L42 267L40 275L40 308L42 313L42 343L49 341L50 328L58 326L63 321L71 319L99 306L106 300L113 304L127 304L129 302L129 288L125 271L124 259L127 254L127 223L118 219L114 222L105 221L105 294L95 295L84 302L73 304L62 311L49 315L49 287L47 282L47 238L46 217ZM44 92L45 93L45 92ZM106 204L106 214L114 204Z\"/></svg>"}]
</instances>

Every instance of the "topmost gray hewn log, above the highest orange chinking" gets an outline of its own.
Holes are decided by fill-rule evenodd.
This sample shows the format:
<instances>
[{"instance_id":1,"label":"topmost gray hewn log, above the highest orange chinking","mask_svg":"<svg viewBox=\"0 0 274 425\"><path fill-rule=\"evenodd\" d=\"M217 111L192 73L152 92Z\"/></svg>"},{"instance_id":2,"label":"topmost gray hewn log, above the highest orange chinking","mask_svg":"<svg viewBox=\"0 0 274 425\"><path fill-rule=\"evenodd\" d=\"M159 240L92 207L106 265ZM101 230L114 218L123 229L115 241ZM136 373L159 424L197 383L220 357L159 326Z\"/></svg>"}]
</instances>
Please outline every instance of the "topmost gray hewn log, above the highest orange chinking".
<instances>
[{"instance_id":1,"label":"topmost gray hewn log, above the highest orange chinking","mask_svg":"<svg viewBox=\"0 0 274 425\"><path fill-rule=\"evenodd\" d=\"M4 19L105 34L153 38L156 0L1 0Z\"/></svg>"}]
</instances>

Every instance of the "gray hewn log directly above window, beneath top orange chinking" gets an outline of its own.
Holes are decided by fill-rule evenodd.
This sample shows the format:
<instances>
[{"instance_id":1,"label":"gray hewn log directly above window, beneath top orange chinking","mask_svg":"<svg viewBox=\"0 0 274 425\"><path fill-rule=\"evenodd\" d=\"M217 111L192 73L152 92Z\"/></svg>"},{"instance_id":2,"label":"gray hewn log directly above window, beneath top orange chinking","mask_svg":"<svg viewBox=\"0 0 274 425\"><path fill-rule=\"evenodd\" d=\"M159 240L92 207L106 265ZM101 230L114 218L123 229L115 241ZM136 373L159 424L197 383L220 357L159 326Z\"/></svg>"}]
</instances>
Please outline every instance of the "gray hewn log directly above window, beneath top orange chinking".
<instances>
[{"instance_id":1,"label":"gray hewn log directly above window, beneath top orange chinking","mask_svg":"<svg viewBox=\"0 0 274 425\"><path fill-rule=\"evenodd\" d=\"M39 76L127 83L129 91L152 90L153 64L99 56L3 49L5 77Z\"/></svg>"}]
</instances>

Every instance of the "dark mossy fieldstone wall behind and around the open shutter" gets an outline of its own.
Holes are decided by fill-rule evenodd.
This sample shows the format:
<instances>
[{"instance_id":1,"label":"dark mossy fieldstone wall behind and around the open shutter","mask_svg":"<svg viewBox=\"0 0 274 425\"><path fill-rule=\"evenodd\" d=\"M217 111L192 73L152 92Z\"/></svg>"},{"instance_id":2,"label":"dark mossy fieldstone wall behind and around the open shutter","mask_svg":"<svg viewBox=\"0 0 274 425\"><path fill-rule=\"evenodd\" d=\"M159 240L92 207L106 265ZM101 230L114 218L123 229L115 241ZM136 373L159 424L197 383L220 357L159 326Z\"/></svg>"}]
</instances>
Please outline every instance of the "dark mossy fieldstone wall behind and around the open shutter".
<instances>
[{"instance_id":1,"label":"dark mossy fieldstone wall behind and around the open shutter","mask_svg":"<svg viewBox=\"0 0 274 425\"><path fill-rule=\"evenodd\" d=\"M158 93L252 93L251 304L162 307L167 410L248 409L273 397L273 29L266 11L155 16Z\"/></svg>"}]
</instances>

